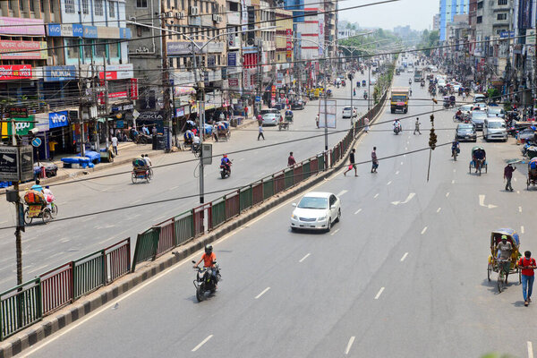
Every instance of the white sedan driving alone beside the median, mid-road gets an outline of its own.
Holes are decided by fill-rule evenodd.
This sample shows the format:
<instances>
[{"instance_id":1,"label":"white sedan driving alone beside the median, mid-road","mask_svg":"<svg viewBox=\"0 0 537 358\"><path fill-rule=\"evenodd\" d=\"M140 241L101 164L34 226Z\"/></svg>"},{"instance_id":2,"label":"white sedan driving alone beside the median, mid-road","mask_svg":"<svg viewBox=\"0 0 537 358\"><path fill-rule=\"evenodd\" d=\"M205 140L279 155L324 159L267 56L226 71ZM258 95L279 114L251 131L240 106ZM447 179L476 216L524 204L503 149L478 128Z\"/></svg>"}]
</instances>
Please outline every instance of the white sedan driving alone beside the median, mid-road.
<instances>
[{"instance_id":1,"label":"white sedan driving alone beside the median, mid-road","mask_svg":"<svg viewBox=\"0 0 537 358\"><path fill-rule=\"evenodd\" d=\"M330 231L341 218L341 201L331 192L308 192L291 215L291 230Z\"/></svg>"}]
</instances>

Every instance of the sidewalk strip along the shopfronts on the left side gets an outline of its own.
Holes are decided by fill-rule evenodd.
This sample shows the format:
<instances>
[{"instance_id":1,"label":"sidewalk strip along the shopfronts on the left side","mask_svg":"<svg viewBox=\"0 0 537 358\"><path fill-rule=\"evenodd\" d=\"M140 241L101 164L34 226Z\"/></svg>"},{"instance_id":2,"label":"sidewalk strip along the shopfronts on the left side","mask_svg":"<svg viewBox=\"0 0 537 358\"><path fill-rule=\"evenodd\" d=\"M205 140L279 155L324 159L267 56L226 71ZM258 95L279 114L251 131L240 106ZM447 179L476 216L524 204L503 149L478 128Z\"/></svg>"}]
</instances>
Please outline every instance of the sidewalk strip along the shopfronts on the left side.
<instances>
[{"instance_id":1,"label":"sidewalk strip along the shopfronts on the left side","mask_svg":"<svg viewBox=\"0 0 537 358\"><path fill-rule=\"evenodd\" d=\"M249 126L255 123L257 123L257 121L253 120L252 118L249 118L245 120L245 123L238 125L237 127L231 127L231 130L234 131L236 129L241 129L241 128L244 128L246 126ZM181 137L183 137L183 135L181 135ZM181 139L180 141L182 142L183 139ZM213 141L213 139L212 137L211 138L208 137L204 141ZM53 163L58 167L57 175L51 178L40 179L40 182L42 185L46 185L49 183L59 182L68 178L77 177L79 175L88 175L90 173L97 172L99 170L108 169L114 166L121 166L126 163L131 163L132 159L139 158L141 154L148 154L149 158L156 158L166 153L162 149L159 149L159 150L151 149L151 144L135 144L132 141L127 141L127 142L118 143L117 154L118 155L114 158L114 161L112 163L101 162L93 168L90 168L90 167L64 168L64 163L62 162L61 157L72 157L72 155L58 156L58 158L56 158L56 160L53 161ZM47 162L42 162L42 163L50 163L50 162L47 161ZM21 183L20 190L25 190L27 188L30 188L33 184L34 182ZM0 189L0 194L3 194L6 189L11 189L11 188L13 187Z\"/></svg>"}]
</instances>

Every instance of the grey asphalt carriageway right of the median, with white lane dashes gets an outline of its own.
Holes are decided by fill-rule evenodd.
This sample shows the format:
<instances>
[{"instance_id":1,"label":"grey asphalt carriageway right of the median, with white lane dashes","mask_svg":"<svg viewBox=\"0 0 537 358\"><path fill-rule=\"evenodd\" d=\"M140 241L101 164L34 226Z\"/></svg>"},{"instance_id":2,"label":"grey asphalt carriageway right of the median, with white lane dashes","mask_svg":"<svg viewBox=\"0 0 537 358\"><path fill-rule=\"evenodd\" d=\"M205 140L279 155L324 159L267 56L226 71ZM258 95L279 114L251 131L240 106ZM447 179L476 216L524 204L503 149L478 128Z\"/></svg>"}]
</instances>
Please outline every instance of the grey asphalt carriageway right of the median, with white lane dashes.
<instances>
[{"instance_id":1,"label":"grey asphalt carriageway right of the median, with white lane dashes","mask_svg":"<svg viewBox=\"0 0 537 358\"><path fill-rule=\"evenodd\" d=\"M457 161L448 145L431 158L411 153L428 146L422 114L432 109L426 90L412 87L409 114L387 107L356 145L357 162L377 147L379 173L366 163L345 177L344 168L311 189L341 198L330 233L291 232L299 197L287 200L214 244L224 280L207 301L196 303L192 286L197 252L23 355L533 357L533 305L524 307L515 277L498 294L486 273L491 230L515 228L521 251L536 251L523 166L516 192L503 190L505 161L520 151L513 139L480 138L489 161L481 176L468 172L473 143L461 144ZM413 135L416 115L422 135ZM452 140L453 115L435 115L439 143Z\"/></svg>"}]
</instances>

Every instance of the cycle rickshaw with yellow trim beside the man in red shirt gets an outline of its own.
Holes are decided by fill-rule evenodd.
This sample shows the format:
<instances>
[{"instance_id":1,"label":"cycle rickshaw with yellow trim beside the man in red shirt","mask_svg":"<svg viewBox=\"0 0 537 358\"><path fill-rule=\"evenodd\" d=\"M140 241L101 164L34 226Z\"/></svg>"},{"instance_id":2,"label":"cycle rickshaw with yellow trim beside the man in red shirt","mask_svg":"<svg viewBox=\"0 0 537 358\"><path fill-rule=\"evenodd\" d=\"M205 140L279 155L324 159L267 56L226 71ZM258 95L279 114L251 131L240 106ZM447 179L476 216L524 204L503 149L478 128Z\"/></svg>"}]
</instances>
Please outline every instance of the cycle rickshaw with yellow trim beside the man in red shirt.
<instances>
[{"instance_id":1,"label":"cycle rickshaw with yellow trim beside the man in red shirt","mask_svg":"<svg viewBox=\"0 0 537 358\"><path fill-rule=\"evenodd\" d=\"M513 246L511 257L509 258L509 272L505 275L504 270L500 269L501 260L498 259L498 244L501 242L501 237L507 236L507 242ZM498 273L497 285L498 292L501 293L505 286L507 286L507 277L510 274L518 274L518 283L522 282L522 271L518 268L518 259L522 256L519 251L520 238L515 230L510 228L502 228L493 231L490 234L490 255L489 264L487 266L487 278L490 281L490 275L492 272Z\"/></svg>"}]
</instances>

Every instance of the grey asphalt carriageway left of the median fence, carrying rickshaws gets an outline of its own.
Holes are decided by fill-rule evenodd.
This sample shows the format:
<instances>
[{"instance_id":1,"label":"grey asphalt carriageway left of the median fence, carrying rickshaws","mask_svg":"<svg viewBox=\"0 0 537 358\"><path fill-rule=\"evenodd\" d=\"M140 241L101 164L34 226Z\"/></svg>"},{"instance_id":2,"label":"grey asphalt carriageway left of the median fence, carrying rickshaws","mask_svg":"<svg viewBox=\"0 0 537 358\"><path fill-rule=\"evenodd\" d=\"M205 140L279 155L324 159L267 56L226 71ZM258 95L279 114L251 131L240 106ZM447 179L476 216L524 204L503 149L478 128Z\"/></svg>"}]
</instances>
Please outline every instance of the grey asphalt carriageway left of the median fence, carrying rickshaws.
<instances>
[{"instance_id":1,"label":"grey asphalt carriageway left of the median fence, carrying rickshaws","mask_svg":"<svg viewBox=\"0 0 537 358\"><path fill-rule=\"evenodd\" d=\"M334 90L336 99L348 96L348 86ZM342 106L348 102L347 99L337 100ZM359 112L366 112L365 105L365 101L354 99L354 106ZM225 180L219 177L218 158L213 160L212 165L205 166L205 202L282 170L286 167L290 151L294 151L298 162L320 153L324 149L324 130L315 126L318 108L319 101L310 101L304 110L294 111L294 124L289 131L266 127L266 141L257 141L255 125L245 125L234 130L230 141L213 143L214 155L235 152L229 155L234 165L231 177ZM338 112L342 110L342 107L337 108ZM328 135L330 147L340 141L345 130L350 128L350 120L341 119L341 112L337 117L337 130L330 130L332 133ZM192 152L158 155L147 150L149 146L144 147L129 148L140 150L135 152L120 147L119 156L112 165L100 164L96 167L104 169L86 171L88 175L80 175L81 170L72 169L72 172L68 171L67 179L50 183L59 209L58 217L47 225L37 223L27 226L26 232L22 233L24 280L102 250L126 237L132 238L133 253L138 233L199 205L199 160ZM131 160L141 153L149 154L155 177L151 183L133 184ZM128 159L121 163L119 160L122 158ZM167 201L142 206L157 200ZM124 207L132 208L121 209ZM112 211L98 214L110 209ZM13 228L10 228L14 224L14 206L0 201L0 251L3 252L0 256L0 292L16 283Z\"/></svg>"}]
</instances>

